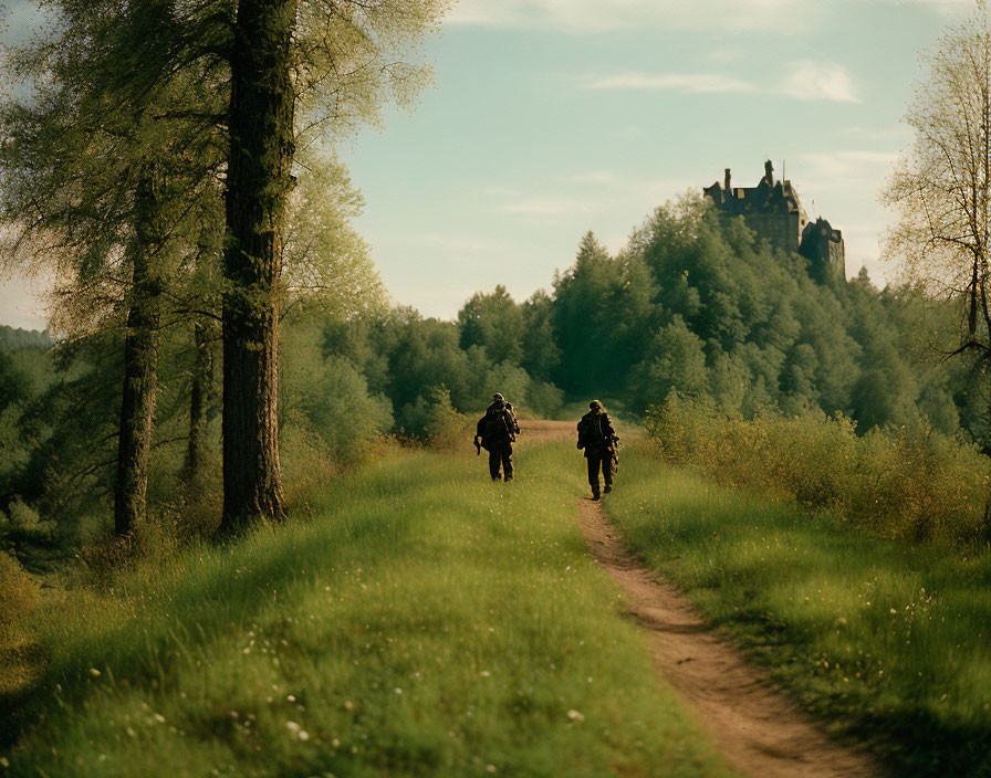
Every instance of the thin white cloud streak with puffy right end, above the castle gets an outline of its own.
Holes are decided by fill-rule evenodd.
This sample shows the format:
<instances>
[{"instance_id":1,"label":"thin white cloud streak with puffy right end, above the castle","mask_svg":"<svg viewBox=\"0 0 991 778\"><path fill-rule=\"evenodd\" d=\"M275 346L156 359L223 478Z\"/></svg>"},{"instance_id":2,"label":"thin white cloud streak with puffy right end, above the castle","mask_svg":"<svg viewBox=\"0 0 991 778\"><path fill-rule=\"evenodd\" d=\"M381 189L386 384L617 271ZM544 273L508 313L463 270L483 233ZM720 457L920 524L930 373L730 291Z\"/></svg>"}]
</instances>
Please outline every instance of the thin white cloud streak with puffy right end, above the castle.
<instances>
[{"instance_id":1,"label":"thin white cloud streak with puffy right end, above the castle","mask_svg":"<svg viewBox=\"0 0 991 778\"><path fill-rule=\"evenodd\" d=\"M859 91L847 70L833 62L800 60L787 66L779 84L764 86L734 75L720 73L644 73L627 71L614 75L581 76L584 90L638 90L681 94L768 94L802 101L860 103Z\"/></svg>"}]
</instances>

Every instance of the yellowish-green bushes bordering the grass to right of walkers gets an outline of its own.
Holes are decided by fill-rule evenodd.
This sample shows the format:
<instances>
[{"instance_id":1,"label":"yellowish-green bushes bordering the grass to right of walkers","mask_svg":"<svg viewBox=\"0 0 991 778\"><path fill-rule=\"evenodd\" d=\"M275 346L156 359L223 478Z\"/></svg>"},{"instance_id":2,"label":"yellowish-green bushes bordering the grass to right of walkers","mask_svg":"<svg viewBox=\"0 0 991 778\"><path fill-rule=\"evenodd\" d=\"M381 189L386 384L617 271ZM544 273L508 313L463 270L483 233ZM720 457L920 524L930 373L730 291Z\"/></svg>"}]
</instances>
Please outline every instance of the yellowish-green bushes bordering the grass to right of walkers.
<instances>
[{"instance_id":1,"label":"yellowish-green bushes bordering the grass to right of walkers","mask_svg":"<svg viewBox=\"0 0 991 778\"><path fill-rule=\"evenodd\" d=\"M668 462L722 484L825 508L889 537L988 540L991 462L960 435L920 424L858 437L851 419L810 407L744 420L676 392L646 423Z\"/></svg>"}]
</instances>

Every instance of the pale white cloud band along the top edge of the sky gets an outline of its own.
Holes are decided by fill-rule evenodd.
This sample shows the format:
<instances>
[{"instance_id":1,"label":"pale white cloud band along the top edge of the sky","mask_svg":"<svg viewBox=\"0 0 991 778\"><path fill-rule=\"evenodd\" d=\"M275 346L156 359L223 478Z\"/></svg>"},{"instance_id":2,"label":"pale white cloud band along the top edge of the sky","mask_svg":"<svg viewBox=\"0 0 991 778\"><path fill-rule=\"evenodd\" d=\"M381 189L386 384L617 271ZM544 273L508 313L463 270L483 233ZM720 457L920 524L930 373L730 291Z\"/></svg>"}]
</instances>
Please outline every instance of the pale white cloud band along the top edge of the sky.
<instances>
[{"instance_id":1,"label":"pale white cloud band along the top edge of the sky","mask_svg":"<svg viewBox=\"0 0 991 778\"><path fill-rule=\"evenodd\" d=\"M794 33L821 18L812 0L460 0L449 24L552 29Z\"/></svg>"}]
</instances>

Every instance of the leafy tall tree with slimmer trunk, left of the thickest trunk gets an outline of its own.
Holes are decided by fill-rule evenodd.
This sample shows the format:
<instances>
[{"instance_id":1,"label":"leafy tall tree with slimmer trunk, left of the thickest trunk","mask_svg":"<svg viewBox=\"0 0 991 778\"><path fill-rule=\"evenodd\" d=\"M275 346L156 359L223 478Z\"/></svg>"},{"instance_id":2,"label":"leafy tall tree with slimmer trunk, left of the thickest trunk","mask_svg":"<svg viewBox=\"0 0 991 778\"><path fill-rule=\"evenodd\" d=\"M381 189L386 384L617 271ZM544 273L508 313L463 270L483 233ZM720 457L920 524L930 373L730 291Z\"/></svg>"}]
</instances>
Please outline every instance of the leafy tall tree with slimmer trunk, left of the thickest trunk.
<instances>
[{"instance_id":1,"label":"leafy tall tree with slimmer trunk, left of the thickest trunk","mask_svg":"<svg viewBox=\"0 0 991 778\"><path fill-rule=\"evenodd\" d=\"M218 60L189 57L174 0L53 0L44 35L12 52L0 112L8 261L56 277L56 329L119 333L124 376L114 526L145 516L159 327L212 174ZM196 69L175 62L195 61ZM28 88L24 88L28 87ZM171 290L175 292L175 290Z\"/></svg>"}]
</instances>

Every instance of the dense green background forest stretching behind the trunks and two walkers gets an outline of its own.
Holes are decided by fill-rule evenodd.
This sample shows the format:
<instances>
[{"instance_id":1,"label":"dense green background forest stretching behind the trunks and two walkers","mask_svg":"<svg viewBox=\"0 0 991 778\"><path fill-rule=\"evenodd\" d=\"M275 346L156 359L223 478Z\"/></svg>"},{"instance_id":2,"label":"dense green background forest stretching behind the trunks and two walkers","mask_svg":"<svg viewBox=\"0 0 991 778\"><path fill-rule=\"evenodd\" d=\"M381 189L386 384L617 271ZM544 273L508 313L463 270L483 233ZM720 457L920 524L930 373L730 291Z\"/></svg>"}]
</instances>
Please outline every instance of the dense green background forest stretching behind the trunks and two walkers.
<instances>
[{"instance_id":1,"label":"dense green background forest stretching behind the trunks and two walkers","mask_svg":"<svg viewBox=\"0 0 991 778\"><path fill-rule=\"evenodd\" d=\"M388 303L363 261L364 290L338 284L338 298L300 297L283 315L290 490L315 462L332 477L387 438L427 440L451 412L480 412L492 391L534 418L597 395L641 418L677 392L730 418L818 409L862 435L909 428L985 445L987 395L946 356L952 304L878 290L863 272L813 281L806 260L772 250L697 195L658 208L616 256L590 232L550 291L522 303L503 286L479 292L457 320ZM209 533L217 506L209 518L198 501L219 487L220 355L216 336L198 337L164 332L148 494L170 524ZM121 333L50 343L8 328L3 344L8 533L44 526L70 546L92 540L109 529Z\"/></svg>"}]
</instances>

